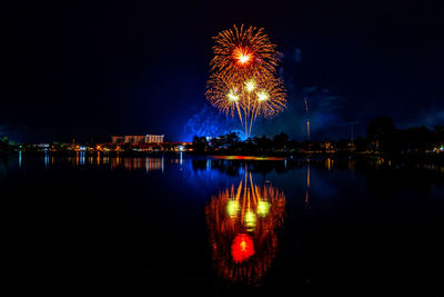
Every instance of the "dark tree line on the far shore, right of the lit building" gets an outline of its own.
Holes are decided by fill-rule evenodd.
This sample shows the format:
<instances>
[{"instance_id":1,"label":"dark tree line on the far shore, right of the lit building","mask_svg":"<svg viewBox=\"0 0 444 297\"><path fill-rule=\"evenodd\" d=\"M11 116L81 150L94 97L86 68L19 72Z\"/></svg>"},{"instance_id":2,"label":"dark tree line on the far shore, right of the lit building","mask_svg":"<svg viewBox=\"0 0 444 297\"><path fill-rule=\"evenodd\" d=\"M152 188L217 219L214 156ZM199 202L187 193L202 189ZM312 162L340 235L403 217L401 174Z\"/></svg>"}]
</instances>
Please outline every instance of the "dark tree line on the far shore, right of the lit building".
<instances>
[{"instance_id":1,"label":"dark tree line on the far shore, right of the lit building","mask_svg":"<svg viewBox=\"0 0 444 297\"><path fill-rule=\"evenodd\" d=\"M359 152L359 154L427 154L444 150L444 127L433 130L422 126L397 129L393 120L381 116L367 123L366 135L356 139L297 141L285 132L241 140L231 132L208 138L194 136L191 148L196 152ZM441 150L440 150L441 149ZM444 151L443 151L444 152Z\"/></svg>"}]
</instances>

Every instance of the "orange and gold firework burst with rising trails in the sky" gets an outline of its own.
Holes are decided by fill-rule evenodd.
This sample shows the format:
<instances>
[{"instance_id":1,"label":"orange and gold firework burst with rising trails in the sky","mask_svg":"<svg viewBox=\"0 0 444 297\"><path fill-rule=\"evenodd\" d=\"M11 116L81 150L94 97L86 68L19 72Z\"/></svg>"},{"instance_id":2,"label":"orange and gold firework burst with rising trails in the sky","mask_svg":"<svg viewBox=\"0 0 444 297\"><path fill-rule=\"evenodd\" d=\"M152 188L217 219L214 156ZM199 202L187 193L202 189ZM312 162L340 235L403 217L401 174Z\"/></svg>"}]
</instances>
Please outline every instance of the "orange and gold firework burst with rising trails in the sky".
<instances>
[{"instance_id":1,"label":"orange and gold firework burst with rising trails in the sky","mask_svg":"<svg viewBox=\"0 0 444 297\"><path fill-rule=\"evenodd\" d=\"M285 88L276 77L276 46L263 29L243 26L214 40L206 99L221 112L239 117L249 137L258 117L273 117L286 105Z\"/></svg>"}]
</instances>

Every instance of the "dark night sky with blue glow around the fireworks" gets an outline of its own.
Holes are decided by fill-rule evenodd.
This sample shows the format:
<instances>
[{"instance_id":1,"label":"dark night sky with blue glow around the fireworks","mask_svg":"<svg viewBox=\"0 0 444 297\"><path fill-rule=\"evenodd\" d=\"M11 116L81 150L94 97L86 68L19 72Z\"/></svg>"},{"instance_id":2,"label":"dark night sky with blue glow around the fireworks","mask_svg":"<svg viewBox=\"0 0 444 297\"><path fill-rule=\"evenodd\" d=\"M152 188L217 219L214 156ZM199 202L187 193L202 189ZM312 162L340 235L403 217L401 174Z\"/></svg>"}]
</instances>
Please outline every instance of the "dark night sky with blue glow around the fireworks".
<instances>
[{"instance_id":1,"label":"dark night sky with blue glow around the fireworks","mask_svg":"<svg viewBox=\"0 0 444 297\"><path fill-rule=\"evenodd\" d=\"M283 53L289 109L255 133L302 139L304 97L314 138L349 137L351 122L363 133L380 115L402 128L444 125L438 2L6 1L0 135L189 140L213 122L231 129L204 90L211 37L234 23L265 28Z\"/></svg>"}]
</instances>

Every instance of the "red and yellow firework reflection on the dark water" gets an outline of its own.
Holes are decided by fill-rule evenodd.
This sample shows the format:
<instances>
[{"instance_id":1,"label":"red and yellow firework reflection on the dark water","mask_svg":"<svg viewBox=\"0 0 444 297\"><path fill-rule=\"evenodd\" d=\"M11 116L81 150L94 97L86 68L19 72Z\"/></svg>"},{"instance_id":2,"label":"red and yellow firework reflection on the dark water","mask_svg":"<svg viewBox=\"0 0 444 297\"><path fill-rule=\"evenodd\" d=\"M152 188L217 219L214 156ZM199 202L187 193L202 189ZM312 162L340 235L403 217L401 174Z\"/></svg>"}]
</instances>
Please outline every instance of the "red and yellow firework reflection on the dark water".
<instances>
[{"instance_id":1,"label":"red and yellow firework reflection on the dark water","mask_svg":"<svg viewBox=\"0 0 444 297\"><path fill-rule=\"evenodd\" d=\"M206 206L213 261L221 276L256 283L272 264L285 196L271 185L253 184L251 174Z\"/></svg>"}]
</instances>

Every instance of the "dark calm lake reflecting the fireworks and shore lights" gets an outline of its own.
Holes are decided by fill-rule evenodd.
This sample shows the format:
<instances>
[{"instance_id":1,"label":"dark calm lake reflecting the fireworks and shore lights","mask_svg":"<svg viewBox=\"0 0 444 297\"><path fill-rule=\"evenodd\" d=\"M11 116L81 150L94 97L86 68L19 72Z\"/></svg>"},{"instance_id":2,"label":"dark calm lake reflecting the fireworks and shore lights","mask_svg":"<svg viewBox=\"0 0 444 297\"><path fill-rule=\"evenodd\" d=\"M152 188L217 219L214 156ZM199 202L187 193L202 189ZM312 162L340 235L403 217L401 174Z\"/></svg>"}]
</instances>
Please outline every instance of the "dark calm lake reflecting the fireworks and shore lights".
<instances>
[{"instance_id":1,"label":"dark calm lake reflecting the fireworks and shore lights","mask_svg":"<svg viewBox=\"0 0 444 297\"><path fill-rule=\"evenodd\" d=\"M0 189L1 275L60 293L443 289L440 166L16 154Z\"/></svg>"}]
</instances>

